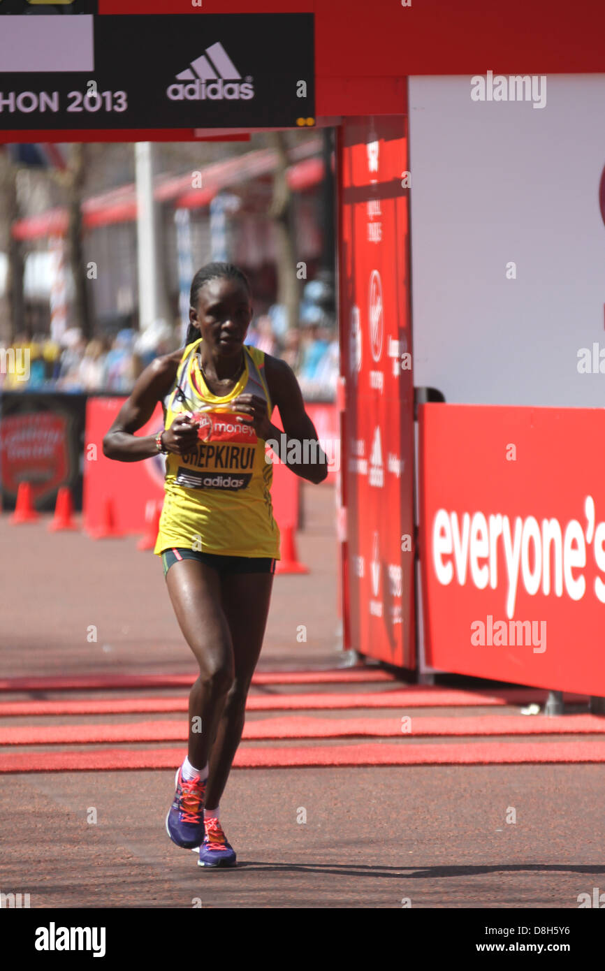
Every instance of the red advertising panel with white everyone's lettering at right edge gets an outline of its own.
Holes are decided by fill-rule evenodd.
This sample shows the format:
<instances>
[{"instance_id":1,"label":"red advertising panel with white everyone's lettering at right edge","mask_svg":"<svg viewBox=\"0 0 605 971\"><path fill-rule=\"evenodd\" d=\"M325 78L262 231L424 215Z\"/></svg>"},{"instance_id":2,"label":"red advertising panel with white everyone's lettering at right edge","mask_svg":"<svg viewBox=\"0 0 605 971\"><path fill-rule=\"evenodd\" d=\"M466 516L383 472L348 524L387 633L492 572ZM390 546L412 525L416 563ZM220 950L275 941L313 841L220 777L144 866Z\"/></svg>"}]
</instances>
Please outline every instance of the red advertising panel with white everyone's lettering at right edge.
<instances>
[{"instance_id":1,"label":"red advertising panel with white everyone's lettering at right edge","mask_svg":"<svg viewBox=\"0 0 605 971\"><path fill-rule=\"evenodd\" d=\"M420 407L427 664L605 695L602 409Z\"/></svg>"}]
</instances>

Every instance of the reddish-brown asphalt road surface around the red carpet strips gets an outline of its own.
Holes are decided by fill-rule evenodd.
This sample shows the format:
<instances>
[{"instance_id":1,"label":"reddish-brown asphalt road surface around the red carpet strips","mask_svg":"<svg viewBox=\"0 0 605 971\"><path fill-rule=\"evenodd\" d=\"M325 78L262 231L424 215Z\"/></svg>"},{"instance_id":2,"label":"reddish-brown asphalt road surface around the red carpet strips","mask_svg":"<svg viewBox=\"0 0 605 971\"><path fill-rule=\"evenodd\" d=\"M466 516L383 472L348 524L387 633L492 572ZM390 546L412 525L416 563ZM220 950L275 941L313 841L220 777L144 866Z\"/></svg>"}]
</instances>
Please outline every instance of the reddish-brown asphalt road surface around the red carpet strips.
<instances>
[{"instance_id":1,"label":"reddish-brown asphalt road surface around the red carpet strips","mask_svg":"<svg viewBox=\"0 0 605 971\"><path fill-rule=\"evenodd\" d=\"M341 659L334 493L321 486L305 495L299 558L312 572L276 578L259 670ZM44 520L17 529L7 519L0 517L0 677L192 669L159 557L137 552L135 538L94 543L51 535ZM98 630L92 643L90 624ZM448 710L452 718L470 713ZM112 719L128 720L105 717ZM64 721L36 722L41 746L44 725ZM0 733L9 722L31 720L1 720ZM201 869L169 841L173 791L174 772L165 770L2 776L0 890L29 893L32 908L497 910L577 909L579 894L605 889L600 765L236 769L221 804L239 857L232 871Z\"/></svg>"}]
</instances>

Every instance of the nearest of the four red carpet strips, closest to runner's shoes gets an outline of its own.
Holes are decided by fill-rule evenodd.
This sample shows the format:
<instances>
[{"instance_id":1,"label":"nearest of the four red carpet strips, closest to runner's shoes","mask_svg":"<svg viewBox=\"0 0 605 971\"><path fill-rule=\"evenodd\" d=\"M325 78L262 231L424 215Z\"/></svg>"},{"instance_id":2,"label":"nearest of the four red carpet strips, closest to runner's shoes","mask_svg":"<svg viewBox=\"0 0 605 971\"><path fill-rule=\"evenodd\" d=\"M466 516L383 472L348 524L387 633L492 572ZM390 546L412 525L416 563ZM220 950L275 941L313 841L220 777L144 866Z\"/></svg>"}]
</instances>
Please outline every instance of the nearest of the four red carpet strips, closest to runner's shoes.
<instances>
[{"instance_id":1,"label":"nearest of the four red carpet strips, closest to runner's shoes","mask_svg":"<svg viewBox=\"0 0 605 971\"><path fill-rule=\"evenodd\" d=\"M92 749L88 752L0 753L0 772L90 772L171 769L183 760L179 749ZM364 745L315 748L240 748L235 768L346 765L494 765L531 762L605 762L605 742L477 742L460 745Z\"/></svg>"}]
</instances>

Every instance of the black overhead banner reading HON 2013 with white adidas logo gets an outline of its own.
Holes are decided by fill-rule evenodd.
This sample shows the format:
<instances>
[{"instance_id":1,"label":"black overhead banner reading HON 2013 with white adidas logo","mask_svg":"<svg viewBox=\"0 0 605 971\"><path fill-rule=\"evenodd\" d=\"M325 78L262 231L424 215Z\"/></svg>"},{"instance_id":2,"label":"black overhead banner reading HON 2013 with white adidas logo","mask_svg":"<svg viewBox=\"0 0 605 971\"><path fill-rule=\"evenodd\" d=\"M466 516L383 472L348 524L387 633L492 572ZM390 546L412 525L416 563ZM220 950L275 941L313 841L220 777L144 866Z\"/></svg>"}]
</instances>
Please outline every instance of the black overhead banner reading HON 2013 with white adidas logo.
<instances>
[{"instance_id":1,"label":"black overhead banner reading HON 2013 with white adidas logo","mask_svg":"<svg viewBox=\"0 0 605 971\"><path fill-rule=\"evenodd\" d=\"M0 128L314 123L312 14L13 16L2 27Z\"/></svg>"}]
</instances>

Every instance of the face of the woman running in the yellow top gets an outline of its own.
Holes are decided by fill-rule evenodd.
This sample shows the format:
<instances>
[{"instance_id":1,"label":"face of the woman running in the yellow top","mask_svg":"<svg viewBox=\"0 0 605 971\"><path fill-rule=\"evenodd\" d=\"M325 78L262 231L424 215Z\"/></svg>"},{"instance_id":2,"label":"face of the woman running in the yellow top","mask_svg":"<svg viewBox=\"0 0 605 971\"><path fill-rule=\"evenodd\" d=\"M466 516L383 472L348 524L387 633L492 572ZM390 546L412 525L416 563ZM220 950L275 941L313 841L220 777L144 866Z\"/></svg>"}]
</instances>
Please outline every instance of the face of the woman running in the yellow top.
<instances>
[{"instance_id":1,"label":"face of the woman running in the yellow top","mask_svg":"<svg viewBox=\"0 0 605 971\"><path fill-rule=\"evenodd\" d=\"M195 313L191 312L191 321L218 357L237 357L242 352L251 319L246 287L220 277L202 286Z\"/></svg>"}]
</instances>

